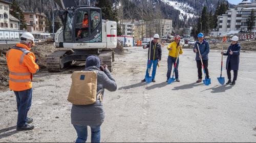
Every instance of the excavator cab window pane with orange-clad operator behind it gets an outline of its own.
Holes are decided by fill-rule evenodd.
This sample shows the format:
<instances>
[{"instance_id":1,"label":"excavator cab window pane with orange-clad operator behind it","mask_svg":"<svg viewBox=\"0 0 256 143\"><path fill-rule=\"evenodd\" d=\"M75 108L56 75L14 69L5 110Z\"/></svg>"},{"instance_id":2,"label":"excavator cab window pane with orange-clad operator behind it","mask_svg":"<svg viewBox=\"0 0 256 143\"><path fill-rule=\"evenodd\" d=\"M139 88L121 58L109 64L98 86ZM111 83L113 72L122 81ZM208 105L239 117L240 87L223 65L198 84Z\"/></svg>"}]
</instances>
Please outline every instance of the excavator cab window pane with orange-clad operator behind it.
<instances>
[{"instance_id":1,"label":"excavator cab window pane with orange-clad operator behind it","mask_svg":"<svg viewBox=\"0 0 256 143\"><path fill-rule=\"evenodd\" d=\"M89 35L89 17L87 11L79 11L76 17L76 37L83 39Z\"/></svg>"}]
</instances>

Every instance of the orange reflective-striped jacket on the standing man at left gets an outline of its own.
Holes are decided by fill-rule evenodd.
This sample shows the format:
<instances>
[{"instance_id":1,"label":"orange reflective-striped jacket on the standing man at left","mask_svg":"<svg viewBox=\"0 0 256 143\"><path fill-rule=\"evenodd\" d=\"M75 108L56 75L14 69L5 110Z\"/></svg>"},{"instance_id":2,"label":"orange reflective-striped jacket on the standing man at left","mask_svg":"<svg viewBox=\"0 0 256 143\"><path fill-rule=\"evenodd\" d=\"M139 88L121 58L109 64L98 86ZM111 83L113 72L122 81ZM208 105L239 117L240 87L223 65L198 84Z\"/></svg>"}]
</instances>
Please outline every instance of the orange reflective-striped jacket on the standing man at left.
<instances>
[{"instance_id":1,"label":"orange reflective-striped jacket on the standing man at left","mask_svg":"<svg viewBox=\"0 0 256 143\"><path fill-rule=\"evenodd\" d=\"M33 73L38 71L39 66L30 50L26 45L17 43L7 51L10 90L25 91L32 88Z\"/></svg>"}]
</instances>

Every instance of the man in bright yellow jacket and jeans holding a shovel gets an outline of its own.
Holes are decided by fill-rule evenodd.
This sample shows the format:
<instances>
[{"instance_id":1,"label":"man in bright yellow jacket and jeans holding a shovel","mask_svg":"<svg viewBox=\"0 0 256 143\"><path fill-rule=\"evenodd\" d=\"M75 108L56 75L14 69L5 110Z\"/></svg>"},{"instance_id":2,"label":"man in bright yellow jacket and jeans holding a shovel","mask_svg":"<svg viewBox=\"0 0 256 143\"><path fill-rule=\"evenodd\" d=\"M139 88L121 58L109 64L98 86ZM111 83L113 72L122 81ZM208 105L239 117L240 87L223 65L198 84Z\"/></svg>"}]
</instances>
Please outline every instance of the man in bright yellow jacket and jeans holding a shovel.
<instances>
[{"instance_id":1,"label":"man in bright yellow jacket and jeans holding a shovel","mask_svg":"<svg viewBox=\"0 0 256 143\"><path fill-rule=\"evenodd\" d=\"M183 53L182 48L180 47L180 36L177 35L174 39L174 42L170 43L170 45L167 47L167 50L169 50L169 55L168 55L168 70L167 70L167 80L166 82L168 82L168 79L170 78L170 74L172 73L172 67L173 65L175 65L176 59L178 57L178 52L180 49L180 54ZM175 70L175 78L177 82L180 82L179 80L179 72L178 72L178 68L179 68L179 58L177 60L177 65Z\"/></svg>"}]
</instances>

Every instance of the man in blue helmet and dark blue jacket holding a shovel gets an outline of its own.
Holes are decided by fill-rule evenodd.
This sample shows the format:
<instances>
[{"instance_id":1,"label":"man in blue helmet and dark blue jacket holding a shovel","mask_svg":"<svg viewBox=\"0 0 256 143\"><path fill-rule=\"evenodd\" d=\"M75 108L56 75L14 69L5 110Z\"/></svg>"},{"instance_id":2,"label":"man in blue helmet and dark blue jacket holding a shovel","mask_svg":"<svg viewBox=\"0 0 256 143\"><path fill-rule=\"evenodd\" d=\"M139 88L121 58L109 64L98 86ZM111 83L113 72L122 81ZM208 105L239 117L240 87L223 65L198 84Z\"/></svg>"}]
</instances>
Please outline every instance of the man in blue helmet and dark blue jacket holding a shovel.
<instances>
[{"instance_id":1,"label":"man in blue helmet and dark blue jacket holding a shovel","mask_svg":"<svg viewBox=\"0 0 256 143\"><path fill-rule=\"evenodd\" d=\"M198 49L198 47L199 49ZM197 61L197 69L198 69L198 80L197 83L202 82L202 63L200 58L203 60L204 69L206 73L206 78L209 78L208 71L208 53L210 52L209 43L204 39L204 34L198 34L198 41L194 45L194 52L196 52L196 61ZM200 50L201 55L199 55L198 50Z\"/></svg>"}]
</instances>

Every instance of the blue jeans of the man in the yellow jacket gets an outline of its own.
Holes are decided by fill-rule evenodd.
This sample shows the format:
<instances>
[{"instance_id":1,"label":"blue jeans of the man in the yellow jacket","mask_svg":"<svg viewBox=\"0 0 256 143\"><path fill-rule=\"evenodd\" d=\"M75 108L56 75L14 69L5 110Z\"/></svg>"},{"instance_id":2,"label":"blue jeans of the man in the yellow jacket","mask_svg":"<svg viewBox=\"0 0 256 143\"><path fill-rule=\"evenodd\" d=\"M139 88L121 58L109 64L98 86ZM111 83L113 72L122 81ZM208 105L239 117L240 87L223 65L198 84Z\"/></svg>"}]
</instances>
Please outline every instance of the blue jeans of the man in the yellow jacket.
<instances>
[{"instance_id":1,"label":"blue jeans of the man in the yellow jacket","mask_svg":"<svg viewBox=\"0 0 256 143\"><path fill-rule=\"evenodd\" d=\"M172 68L173 68L173 65L175 65L175 62L176 62L176 59L177 58L174 58L172 56L168 56L168 71L167 71L167 80L170 78L170 74L172 74ZM179 58L178 58L178 61L177 61L177 65L176 65L176 68L175 68L175 78L179 78L179 71L178 71L178 68L179 68Z\"/></svg>"}]
</instances>

